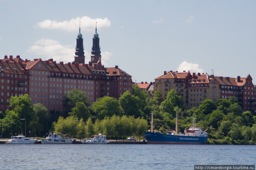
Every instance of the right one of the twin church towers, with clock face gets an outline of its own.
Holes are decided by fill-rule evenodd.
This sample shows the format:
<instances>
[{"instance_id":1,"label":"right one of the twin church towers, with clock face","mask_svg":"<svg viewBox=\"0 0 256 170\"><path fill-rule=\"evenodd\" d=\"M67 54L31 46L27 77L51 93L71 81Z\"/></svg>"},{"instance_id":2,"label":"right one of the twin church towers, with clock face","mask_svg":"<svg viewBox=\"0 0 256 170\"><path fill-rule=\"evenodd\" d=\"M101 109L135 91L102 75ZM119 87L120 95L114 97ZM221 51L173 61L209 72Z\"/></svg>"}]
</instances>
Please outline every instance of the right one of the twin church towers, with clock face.
<instances>
[{"instance_id":1,"label":"right one of the twin church towers, with clock face","mask_svg":"<svg viewBox=\"0 0 256 170\"><path fill-rule=\"evenodd\" d=\"M98 63L98 61L101 61L101 55L100 55L100 38L99 38L99 34L97 33L97 22L96 22L95 34L93 35L93 38L92 38L91 62Z\"/></svg>"}]
</instances>

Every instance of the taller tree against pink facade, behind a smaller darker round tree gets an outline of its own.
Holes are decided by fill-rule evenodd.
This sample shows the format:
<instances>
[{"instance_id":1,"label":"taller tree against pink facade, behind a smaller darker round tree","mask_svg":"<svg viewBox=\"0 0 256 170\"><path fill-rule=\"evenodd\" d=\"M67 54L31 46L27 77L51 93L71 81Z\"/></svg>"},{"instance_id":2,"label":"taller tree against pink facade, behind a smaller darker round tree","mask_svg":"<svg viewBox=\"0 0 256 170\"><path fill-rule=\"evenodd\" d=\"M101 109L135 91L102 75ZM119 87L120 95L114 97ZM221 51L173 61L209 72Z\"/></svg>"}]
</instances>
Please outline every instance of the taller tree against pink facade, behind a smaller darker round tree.
<instances>
[{"instance_id":1,"label":"taller tree against pink facade, behind a smaller darker round tree","mask_svg":"<svg viewBox=\"0 0 256 170\"><path fill-rule=\"evenodd\" d=\"M86 92L79 90L77 88L74 88L69 92L67 92L62 104L64 108L65 116L67 116L67 114L71 112L71 109L76 106L77 102L82 102L86 106L89 106L90 103L88 99L89 97L86 95Z\"/></svg>"}]
</instances>

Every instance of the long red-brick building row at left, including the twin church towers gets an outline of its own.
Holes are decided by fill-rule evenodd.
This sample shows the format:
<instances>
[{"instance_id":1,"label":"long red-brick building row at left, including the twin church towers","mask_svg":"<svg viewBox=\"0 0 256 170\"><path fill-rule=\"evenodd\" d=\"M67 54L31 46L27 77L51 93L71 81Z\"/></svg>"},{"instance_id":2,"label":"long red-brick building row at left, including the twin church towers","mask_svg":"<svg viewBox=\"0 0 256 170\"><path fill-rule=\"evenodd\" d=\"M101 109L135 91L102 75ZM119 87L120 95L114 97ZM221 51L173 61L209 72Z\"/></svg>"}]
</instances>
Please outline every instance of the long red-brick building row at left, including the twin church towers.
<instances>
[{"instance_id":1,"label":"long red-brick building row at left, including the twin church towers","mask_svg":"<svg viewBox=\"0 0 256 170\"><path fill-rule=\"evenodd\" d=\"M30 96L31 105L41 103L49 112L58 115L63 112L62 101L65 95L73 88L85 91L91 104L103 96L118 99L127 90L132 92L131 75L117 65L106 68L101 64L97 29L93 37L91 61L84 63L80 28L74 58L72 64L56 63L53 59L22 60L20 56L0 59L0 111L10 109L11 96L24 94Z\"/></svg>"}]
</instances>

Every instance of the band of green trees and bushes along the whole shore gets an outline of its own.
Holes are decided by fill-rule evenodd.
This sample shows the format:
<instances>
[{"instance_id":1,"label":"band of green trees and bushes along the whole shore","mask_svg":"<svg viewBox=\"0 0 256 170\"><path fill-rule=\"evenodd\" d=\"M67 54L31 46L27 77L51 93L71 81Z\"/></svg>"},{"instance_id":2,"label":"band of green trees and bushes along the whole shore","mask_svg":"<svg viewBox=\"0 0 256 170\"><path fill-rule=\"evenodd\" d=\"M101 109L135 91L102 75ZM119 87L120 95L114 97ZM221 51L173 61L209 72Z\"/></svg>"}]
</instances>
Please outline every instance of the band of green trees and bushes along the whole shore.
<instances>
[{"instance_id":1,"label":"band of green trees and bushes along the whole shore","mask_svg":"<svg viewBox=\"0 0 256 170\"><path fill-rule=\"evenodd\" d=\"M78 139L102 133L112 139L135 136L139 140L150 128L151 113L154 130L168 133L175 130L177 112L179 133L193 126L196 118L195 126L207 129L208 145L256 145L255 113L243 111L236 98L204 99L198 108L185 109L177 89L170 90L165 100L161 96L156 90L151 98L133 84L132 94L126 91L119 99L104 96L90 105L86 92L72 89L62 102L63 113L48 113L40 103L31 106L27 94L15 96L10 98L10 110L0 112L0 135L45 138L48 131L53 131Z\"/></svg>"}]
</instances>

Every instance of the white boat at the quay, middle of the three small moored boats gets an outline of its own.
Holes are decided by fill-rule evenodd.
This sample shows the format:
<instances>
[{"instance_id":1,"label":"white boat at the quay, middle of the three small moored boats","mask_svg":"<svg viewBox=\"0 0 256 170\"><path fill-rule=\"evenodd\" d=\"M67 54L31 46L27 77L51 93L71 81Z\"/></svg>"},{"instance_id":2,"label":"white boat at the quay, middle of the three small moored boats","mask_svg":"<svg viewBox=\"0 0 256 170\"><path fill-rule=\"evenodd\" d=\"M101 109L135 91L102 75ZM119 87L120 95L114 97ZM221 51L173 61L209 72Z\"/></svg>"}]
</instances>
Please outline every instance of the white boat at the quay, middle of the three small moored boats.
<instances>
[{"instance_id":1,"label":"white boat at the quay, middle of the three small moored boats","mask_svg":"<svg viewBox=\"0 0 256 170\"><path fill-rule=\"evenodd\" d=\"M42 144L46 144L46 143L47 144L49 144L49 143L68 144L68 143L72 143L72 139L69 137L62 138L60 133L55 134L54 132L49 132L47 134L46 139L42 139L41 143Z\"/></svg>"}]
</instances>

